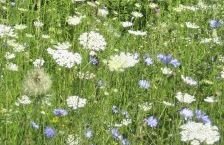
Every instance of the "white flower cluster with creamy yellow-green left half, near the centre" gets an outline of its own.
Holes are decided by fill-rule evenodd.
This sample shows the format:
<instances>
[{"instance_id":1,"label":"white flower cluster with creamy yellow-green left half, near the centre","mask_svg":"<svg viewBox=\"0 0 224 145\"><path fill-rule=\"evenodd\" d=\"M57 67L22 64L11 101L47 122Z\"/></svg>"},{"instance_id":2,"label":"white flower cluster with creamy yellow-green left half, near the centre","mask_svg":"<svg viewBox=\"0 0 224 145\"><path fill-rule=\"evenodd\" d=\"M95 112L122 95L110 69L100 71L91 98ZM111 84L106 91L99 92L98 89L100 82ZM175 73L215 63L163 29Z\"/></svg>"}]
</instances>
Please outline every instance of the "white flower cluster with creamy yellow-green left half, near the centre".
<instances>
[{"instance_id":1,"label":"white flower cluster with creamy yellow-green left half, near the centre","mask_svg":"<svg viewBox=\"0 0 224 145\"><path fill-rule=\"evenodd\" d=\"M111 56L108 60L110 71L124 71L124 69L133 67L139 62L134 54L121 52L119 55Z\"/></svg>"}]
</instances>

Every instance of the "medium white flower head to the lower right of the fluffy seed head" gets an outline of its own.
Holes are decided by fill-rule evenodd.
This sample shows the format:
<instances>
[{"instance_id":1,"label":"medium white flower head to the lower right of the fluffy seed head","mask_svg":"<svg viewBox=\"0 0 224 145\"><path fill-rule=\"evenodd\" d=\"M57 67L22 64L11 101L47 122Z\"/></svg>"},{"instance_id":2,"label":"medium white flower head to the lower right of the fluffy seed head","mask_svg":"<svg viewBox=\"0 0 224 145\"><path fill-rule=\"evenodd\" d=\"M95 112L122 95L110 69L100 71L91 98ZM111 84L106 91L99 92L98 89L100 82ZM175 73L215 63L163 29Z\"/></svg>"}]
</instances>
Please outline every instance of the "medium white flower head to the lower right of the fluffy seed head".
<instances>
[{"instance_id":1,"label":"medium white flower head to the lower right of the fluffy seed head","mask_svg":"<svg viewBox=\"0 0 224 145\"><path fill-rule=\"evenodd\" d=\"M73 110L82 108L86 105L86 99L80 98L79 96L69 96L66 101L68 107L71 107Z\"/></svg>"}]
</instances>

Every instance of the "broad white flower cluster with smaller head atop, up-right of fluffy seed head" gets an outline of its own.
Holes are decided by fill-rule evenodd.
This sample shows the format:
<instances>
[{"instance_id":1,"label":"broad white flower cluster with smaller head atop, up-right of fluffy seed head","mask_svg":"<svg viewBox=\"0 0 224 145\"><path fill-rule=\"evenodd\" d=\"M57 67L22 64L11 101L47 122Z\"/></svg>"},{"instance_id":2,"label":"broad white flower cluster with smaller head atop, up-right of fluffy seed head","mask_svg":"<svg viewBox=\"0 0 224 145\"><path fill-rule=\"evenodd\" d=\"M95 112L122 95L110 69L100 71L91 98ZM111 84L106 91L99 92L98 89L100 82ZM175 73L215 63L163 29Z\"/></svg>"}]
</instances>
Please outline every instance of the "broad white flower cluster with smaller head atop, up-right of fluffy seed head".
<instances>
[{"instance_id":1,"label":"broad white flower cluster with smaller head atop, up-right of fluffy seed head","mask_svg":"<svg viewBox=\"0 0 224 145\"><path fill-rule=\"evenodd\" d=\"M59 43L55 45L56 50L48 48L48 53L53 57L59 66L72 68L76 64L80 64L82 57L79 53L72 53L67 49L71 45L69 43Z\"/></svg>"}]
</instances>

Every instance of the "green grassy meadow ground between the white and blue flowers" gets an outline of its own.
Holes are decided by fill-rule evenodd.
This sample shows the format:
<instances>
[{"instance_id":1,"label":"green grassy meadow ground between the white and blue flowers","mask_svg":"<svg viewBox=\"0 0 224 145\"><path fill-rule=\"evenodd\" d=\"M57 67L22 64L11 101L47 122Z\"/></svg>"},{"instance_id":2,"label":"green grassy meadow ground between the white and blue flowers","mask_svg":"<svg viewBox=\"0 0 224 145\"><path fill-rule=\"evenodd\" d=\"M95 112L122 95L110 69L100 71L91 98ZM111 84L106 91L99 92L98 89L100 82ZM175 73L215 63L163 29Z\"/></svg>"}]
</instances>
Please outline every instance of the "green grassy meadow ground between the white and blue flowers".
<instances>
[{"instance_id":1,"label":"green grassy meadow ground between the white and blue flowers","mask_svg":"<svg viewBox=\"0 0 224 145\"><path fill-rule=\"evenodd\" d=\"M25 24L24 30L15 30L16 38L0 35L0 144L5 145L63 145L68 135L79 139L79 144L112 145L121 144L114 139L111 128L124 119L122 111L127 111L131 123L119 128L123 138L133 145L181 145L180 126L186 122L180 115L184 107L191 110L201 109L209 116L212 125L219 129L220 140L223 142L223 87L224 80L220 76L224 62L223 45L215 42L200 43L204 38L219 38L223 42L224 26L211 28L209 21L224 20L224 3L222 0L203 1L210 6L199 7L192 11L185 8L175 11L180 4L196 6L198 1L168 0L158 1L156 8L146 0L101 0L100 4L91 6L87 2L35 1L16 0L14 3L0 1L0 24L15 26ZM93 4L93 2L92 2ZM99 16L99 8L107 7L109 14ZM151 6L151 7L150 7ZM133 18L131 13L138 11L141 18ZM85 18L76 26L70 26L66 20L79 12ZM43 22L43 27L36 28L35 21ZM123 28L121 22L131 21L133 26ZM187 28L185 22L199 26L197 29ZM127 30L146 31L145 36L135 36ZM98 65L89 62L89 52L79 43L79 36L84 32L99 32L106 40L106 49L97 52ZM1 34L1 29L0 29ZM33 37L28 37L31 34ZM43 38L42 35L49 38ZM9 46L7 41L15 40L25 46L23 52L15 52L18 46ZM70 51L82 56L82 63L72 68L59 66L47 53L47 48L58 42L68 41ZM15 54L15 58L6 59L6 52ZM139 62L124 72L110 71L105 60L120 52L138 53ZM157 59L158 54L172 54L181 63L179 67L168 65L173 75L166 76L161 68L166 65ZM143 56L148 54L153 59L152 65L144 63ZM33 62L43 58L44 70L50 75L52 87L46 94L37 96L24 93L23 82L29 70L34 68ZM7 66L14 63L17 71ZM79 72L91 72L95 77L86 80L77 77ZM196 86L190 86L181 79L181 75L190 76L197 81ZM139 80L148 80L150 88L139 87ZM99 81L106 85L99 87ZM196 101L191 104L177 100L177 92L189 93ZM18 98L28 95L29 105L15 105ZM73 110L66 104L68 96L80 96L87 99L85 107ZM207 96L215 96L218 102L207 103ZM48 100L48 101L46 101ZM163 101L173 103L166 106ZM47 105L50 102L51 105ZM152 103L148 111L141 110L141 104ZM120 113L112 112L117 106ZM56 108L64 108L68 115L57 117L53 114ZM144 119L155 116L158 125L155 128L147 126ZM39 124L34 129L31 122ZM47 138L44 135L46 126L55 129L56 135ZM91 130L92 137L86 132Z\"/></svg>"}]
</instances>

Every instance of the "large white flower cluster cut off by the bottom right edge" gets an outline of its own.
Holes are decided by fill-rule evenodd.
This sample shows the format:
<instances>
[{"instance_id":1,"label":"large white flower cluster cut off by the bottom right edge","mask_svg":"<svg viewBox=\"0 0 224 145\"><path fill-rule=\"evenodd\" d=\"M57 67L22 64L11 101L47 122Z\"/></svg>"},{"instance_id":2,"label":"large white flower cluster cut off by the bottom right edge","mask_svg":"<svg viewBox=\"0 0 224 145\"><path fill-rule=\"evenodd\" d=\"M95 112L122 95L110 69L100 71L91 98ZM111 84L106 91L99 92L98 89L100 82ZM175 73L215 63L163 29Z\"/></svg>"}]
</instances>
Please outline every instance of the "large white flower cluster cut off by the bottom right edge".
<instances>
[{"instance_id":1,"label":"large white flower cluster cut off by the bottom right edge","mask_svg":"<svg viewBox=\"0 0 224 145\"><path fill-rule=\"evenodd\" d=\"M191 145L214 144L220 135L217 126L198 122L187 122L180 126L181 141L191 142Z\"/></svg>"}]
</instances>

